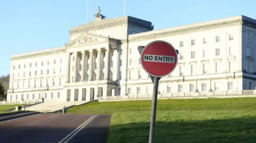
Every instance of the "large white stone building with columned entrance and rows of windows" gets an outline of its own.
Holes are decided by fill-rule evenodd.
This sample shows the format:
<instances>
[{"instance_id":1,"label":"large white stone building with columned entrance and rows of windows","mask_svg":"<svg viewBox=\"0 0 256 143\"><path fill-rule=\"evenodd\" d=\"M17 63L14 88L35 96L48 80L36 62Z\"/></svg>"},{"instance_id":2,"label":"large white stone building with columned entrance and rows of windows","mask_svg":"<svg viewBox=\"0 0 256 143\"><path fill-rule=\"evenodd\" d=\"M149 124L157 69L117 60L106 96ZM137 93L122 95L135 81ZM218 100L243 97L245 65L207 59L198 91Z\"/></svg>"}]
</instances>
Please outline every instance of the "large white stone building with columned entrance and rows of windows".
<instances>
[{"instance_id":1,"label":"large white stone building with columned entrance and rows of windows","mask_svg":"<svg viewBox=\"0 0 256 143\"><path fill-rule=\"evenodd\" d=\"M12 56L7 100L151 94L153 83L142 69L137 47L153 40L166 40L179 50L179 64L160 80L159 92L255 88L256 20L235 16L153 28L131 16L105 19L97 13L93 22L70 30L64 47Z\"/></svg>"}]
</instances>

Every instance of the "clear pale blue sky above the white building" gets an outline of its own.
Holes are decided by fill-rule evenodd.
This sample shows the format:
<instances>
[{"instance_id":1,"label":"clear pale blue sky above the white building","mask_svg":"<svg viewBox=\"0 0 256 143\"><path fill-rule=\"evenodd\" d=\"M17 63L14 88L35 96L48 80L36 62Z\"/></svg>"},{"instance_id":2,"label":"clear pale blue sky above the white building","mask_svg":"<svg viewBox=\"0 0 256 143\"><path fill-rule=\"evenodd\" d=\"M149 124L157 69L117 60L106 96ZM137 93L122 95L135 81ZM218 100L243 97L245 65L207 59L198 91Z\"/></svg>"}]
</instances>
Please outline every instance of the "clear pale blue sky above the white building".
<instances>
[{"instance_id":1,"label":"clear pale blue sky above the white building","mask_svg":"<svg viewBox=\"0 0 256 143\"><path fill-rule=\"evenodd\" d=\"M107 18L123 16L124 0L90 0L88 21L101 7ZM155 30L236 15L256 19L255 0L126 0L125 15L151 21ZM0 0L0 75L10 58L64 46L71 27L86 23L87 0Z\"/></svg>"}]
</instances>

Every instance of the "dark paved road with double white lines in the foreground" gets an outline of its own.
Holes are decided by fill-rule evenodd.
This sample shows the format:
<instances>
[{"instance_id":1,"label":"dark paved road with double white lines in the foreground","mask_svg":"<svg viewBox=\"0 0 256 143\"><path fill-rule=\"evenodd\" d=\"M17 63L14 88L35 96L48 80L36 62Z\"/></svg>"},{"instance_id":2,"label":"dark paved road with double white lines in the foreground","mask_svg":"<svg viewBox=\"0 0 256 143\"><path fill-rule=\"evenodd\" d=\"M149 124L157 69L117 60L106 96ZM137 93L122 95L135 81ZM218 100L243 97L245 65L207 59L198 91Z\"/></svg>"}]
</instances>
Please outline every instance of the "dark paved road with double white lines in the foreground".
<instances>
[{"instance_id":1,"label":"dark paved road with double white lines in the foreground","mask_svg":"<svg viewBox=\"0 0 256 143\"><path fill-rule=\"evenodd\" d=\"M110 115L36 114L0 122L0 142L105 143Z\"/></svg>"}]
</instances>

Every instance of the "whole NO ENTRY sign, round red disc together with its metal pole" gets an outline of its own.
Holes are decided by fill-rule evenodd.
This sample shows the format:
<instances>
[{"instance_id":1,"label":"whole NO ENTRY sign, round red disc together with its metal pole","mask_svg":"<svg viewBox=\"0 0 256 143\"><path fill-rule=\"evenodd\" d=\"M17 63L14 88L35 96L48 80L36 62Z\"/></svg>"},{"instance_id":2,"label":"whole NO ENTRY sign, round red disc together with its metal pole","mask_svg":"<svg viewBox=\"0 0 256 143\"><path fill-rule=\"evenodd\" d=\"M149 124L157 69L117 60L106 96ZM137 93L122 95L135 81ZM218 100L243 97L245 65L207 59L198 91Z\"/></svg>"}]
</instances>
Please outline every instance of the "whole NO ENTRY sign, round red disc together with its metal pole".
<instances>
[{"instance_id":1,"label":"whole NO ENTRY sign, round red disc together with its metal pole","mask_svg":"<svg viewBox=\"0 0 256 143\"><path fill-rule=\"evenodd\" d=\"M179 51L175 50L170 43L162 40L152 41L145 47L139 46L138 51L141 55L140 60L142 68L150 75L154 83L149 130L149 143L153 143L159 80L161 77L172 73L176 68Z\"/></svg>"}]
</instances>

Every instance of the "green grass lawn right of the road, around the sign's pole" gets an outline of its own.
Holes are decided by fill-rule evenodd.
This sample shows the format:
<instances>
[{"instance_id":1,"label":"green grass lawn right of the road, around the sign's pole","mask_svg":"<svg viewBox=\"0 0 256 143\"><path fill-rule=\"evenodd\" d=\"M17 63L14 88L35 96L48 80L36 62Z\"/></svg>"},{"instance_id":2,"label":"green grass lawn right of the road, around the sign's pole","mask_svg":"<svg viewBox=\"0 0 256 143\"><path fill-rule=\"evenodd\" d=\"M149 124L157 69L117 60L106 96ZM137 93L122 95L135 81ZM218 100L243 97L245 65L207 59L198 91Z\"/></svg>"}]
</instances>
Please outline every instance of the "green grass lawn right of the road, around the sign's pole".
<instances>
[{"instance_id":1,"label":"green grass lawn right of the road, around the sign's pole","mask_svg":"<svg viewBox=\"0 0 256 143\"><path fill-rule=\"evenodd\" d=\"M256 98L158 100L155 142L256 140ZM151 100L90 103L68 113L112 114L109 143L148 142Z\"/></svg>"}]
</instances>

